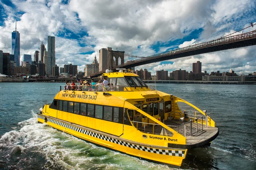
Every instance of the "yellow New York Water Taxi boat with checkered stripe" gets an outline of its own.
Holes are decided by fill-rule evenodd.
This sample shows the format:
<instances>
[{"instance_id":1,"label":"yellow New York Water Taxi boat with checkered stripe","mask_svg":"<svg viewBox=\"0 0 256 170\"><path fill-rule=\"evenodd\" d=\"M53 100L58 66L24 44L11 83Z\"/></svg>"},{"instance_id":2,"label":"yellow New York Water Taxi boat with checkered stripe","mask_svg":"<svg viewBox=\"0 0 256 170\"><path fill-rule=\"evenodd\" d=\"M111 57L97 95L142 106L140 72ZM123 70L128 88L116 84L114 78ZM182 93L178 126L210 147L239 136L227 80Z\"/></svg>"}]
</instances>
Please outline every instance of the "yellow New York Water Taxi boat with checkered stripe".
<instances>
[{"instance_id":1,"label":"yellow New York Water Taxi boat with checkered stripe","mask_svg":"<svg viewBox=\"0 0 256 170\"><path fill-rule=\"evenodd\" d=\"M189 149L209 145L219 133L210 114L146 85L137 74L102 74L111 85L61 87L38 113L46 123L98 146L180 167ZM112 85L113 84L113 85ZM182 110L183 102L195 111Z\"/></svg>"}]
</instances>

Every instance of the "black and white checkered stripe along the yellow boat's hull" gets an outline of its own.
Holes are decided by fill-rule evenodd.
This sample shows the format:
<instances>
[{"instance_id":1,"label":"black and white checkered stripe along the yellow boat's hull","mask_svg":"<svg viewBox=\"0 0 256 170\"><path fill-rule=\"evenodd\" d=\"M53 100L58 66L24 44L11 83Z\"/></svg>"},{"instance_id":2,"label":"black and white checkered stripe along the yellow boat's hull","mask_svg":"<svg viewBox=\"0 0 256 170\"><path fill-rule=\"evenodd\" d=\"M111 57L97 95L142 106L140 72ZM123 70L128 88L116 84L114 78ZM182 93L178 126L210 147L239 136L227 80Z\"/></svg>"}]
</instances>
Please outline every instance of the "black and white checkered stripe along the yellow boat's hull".
<instances>
[{"instance_id":1,"label":"black and white checkered stripe along the yellow boat's hull","mask_svg":"<svg viewBox=\"0 0 256 170\"><path fill-rule=\"evenodd\" d=\"M44 116L38 115L38 118L44 119ZM91 132L91 131L88 131L88 130L81 129L80 127L76 127L76 126L69 125L69 124L66 124L66 123L63 123L63 122L59 122L55 119L47 118L47 120L51 123L56 124L56 125L60 125L62 127L66 127L68 129L75 130L77 132L80 132L80 133L83 133L83 134L86 134L86 135L89 135L89 136L93 136L93 137L98 138L98 139L102 139L102 140L112 142L112 143L115 143L115 144L120 144L120 145L126 146L126 147L131 147L133 149L142 150L142 151L145 151L145 152L157 153L157 154L161 154L161 155L181 156L181 157L183 157L184 154L185 154L185 150L164 150L164 149L155 149L155 148L151 148L151 147L144 147L144 146L140 146L140 145L137 145L137 144L130 144L128 142L120 141L118 139L113 139L109 136L104 136L104 135L101 135L101 134L98 134L98 133L94 133L94 132Z\"/></svg>"}]
</instances>

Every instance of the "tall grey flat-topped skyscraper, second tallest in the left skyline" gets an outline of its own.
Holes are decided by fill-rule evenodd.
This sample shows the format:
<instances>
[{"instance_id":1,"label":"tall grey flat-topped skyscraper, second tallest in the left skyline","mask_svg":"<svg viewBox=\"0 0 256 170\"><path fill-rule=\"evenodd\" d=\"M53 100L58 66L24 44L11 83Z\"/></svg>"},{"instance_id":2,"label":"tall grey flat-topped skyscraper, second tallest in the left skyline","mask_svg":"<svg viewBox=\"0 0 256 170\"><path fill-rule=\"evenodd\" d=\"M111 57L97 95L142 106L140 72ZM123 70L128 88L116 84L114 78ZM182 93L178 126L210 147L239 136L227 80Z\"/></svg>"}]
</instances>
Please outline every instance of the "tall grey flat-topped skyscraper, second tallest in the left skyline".
<instances>
[{"instance_id":1,"label":"tall grey flat-topped skyscraper, second tallest in the left skyline","mask_svg":"<svg viewBox=\"0 0 256 170\"><path fill-rule=\"evenodd\" d=\"M48 36L48 57L47 57L47 70L46 74L52 74L52 67L55 66L55 37Z\"/></svg>"}]
</instances>

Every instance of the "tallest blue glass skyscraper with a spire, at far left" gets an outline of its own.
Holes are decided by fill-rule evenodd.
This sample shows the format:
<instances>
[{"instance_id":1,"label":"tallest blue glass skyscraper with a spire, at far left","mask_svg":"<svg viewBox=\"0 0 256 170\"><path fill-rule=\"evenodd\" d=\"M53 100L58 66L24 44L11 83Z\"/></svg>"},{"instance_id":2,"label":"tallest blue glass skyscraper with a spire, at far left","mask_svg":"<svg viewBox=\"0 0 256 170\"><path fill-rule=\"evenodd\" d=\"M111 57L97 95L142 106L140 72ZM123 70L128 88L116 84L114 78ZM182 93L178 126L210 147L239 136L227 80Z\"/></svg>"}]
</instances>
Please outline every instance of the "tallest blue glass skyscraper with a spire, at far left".
<instances>
[{"instance_id":1,"label":"tallest blue glass skyscraper with a spire, at far left","mask_svg":"<svg viewBox=\"0 0 256 170\"><path fill-rule=\"evenodd\" d=\"M14 61L17 67L20 66L20 33L16 29L12 32L12 54L14 54Z\"/></svg>"}]
</instances>

